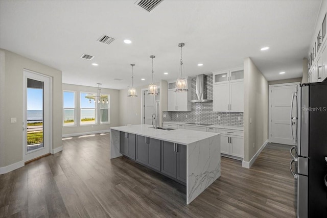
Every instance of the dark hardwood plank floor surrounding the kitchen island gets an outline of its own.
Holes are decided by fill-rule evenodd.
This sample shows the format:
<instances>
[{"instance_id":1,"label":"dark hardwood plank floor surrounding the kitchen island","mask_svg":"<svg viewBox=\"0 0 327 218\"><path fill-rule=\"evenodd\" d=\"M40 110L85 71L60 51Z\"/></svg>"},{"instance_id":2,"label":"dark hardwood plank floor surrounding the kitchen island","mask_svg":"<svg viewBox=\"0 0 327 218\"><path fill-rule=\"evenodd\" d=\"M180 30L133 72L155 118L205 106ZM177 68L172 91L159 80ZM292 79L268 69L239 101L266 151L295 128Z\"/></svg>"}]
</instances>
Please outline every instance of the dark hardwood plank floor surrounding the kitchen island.
<instances>
[{"instance_id":1,"label":"dark hardwood plank floor surrounding the kitchen island","mask_svg":"<svg viewBox=\"0 0 327 218\"><path fill-rule=\"evenodd\" d=\"M0 175L1 217L295 217L289 147L268 144L250 169L222 157L221 177L190 205L186 188L120 157L109 134Z\"/></svg>"}]
</instances>

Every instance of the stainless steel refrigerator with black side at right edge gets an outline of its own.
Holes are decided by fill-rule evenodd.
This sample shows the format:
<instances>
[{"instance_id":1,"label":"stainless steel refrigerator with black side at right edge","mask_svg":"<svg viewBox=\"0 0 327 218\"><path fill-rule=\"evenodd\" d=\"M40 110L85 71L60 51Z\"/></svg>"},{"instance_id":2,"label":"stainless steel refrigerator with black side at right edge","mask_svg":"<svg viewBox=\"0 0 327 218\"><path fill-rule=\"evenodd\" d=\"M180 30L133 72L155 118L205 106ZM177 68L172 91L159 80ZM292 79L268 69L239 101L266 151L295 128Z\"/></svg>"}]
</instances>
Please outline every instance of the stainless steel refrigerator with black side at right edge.
<instances>
[{"instance_id":1,"label":"stainless steel refrigerator with black side at right edge","mask_svg":"<svg viewBox=\"0 0 327 218\"><path fill-rule=\"evenodd\" d=\"M327 217L327 82L298 85L290 123L297 217Z\"/></svg>"}]
</instances>

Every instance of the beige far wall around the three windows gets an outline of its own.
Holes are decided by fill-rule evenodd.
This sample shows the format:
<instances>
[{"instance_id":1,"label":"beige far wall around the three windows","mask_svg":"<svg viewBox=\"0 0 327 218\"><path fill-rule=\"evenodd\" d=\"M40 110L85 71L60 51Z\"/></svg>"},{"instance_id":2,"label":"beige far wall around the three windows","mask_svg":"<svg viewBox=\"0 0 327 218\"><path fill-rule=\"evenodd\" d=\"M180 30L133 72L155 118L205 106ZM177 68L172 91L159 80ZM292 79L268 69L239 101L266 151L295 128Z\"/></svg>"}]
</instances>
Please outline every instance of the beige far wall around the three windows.
<instances>
[{"instance_id":1,"label":"beige far wall around the three windows","mask_svg":"<svg viewBox=\"0 0 327 218\"><path fill-rule=\"evenodd\" d=\"M62 84L62 90L76 92L76 118L80 120L80 92L97 93L98 87ZM74 127L62 127L62 135L83 135L92 132L107 132L110 127L119 126L119 90L101 88L102 94L110 95L110 124L94 124L81 126L79 122Z\"/></svg>"}]
</instances>

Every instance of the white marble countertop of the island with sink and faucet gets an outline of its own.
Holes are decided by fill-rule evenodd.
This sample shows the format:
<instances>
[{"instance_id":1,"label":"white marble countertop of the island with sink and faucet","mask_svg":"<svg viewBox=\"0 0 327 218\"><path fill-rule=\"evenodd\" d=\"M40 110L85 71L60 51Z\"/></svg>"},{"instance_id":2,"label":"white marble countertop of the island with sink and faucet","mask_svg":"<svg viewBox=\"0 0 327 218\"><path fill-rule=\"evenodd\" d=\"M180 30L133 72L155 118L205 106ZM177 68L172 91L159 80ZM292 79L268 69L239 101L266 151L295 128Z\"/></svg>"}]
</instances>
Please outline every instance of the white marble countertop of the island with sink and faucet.
<instances>
[{"instance_id":1,"label":"white marble countertop of the island with sink and faucet","mask_svg":"<svg viewBox=\"0 0 327 218\"><path fill-rule=\"evenodd\" d=\"M141 124L132 126L111 127L110 129L165 140L173 143L184 144L185 146L219 134L185 129L160 130L153 129L151 127L153 126Z\"/></svg>"}]
</instances>

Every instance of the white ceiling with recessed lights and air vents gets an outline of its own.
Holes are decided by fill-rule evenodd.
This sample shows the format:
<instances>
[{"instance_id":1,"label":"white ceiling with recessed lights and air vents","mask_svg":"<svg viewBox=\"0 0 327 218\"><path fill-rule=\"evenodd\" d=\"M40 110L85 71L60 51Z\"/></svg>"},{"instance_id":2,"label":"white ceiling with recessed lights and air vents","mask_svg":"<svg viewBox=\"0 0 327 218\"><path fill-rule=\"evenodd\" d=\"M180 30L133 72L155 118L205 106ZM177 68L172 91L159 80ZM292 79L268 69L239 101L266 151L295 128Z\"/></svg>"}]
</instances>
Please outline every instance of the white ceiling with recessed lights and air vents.
<instances>
[{"instance_id":1,"label":"white ceiling with recessed lights and air vents","mask_svg":"<svg viewBox=\"0 0 327 218\"><path fill-rule=\"evenodd\" d=\"M243 65L268 81L302 75L321 1L168 1L150 13L135 1L0 1L0 47L63 72L63 83L124 89ZM109 44L97 41L106 34ZM130 39L131 44L125 44ZM269 46L268 51L260 51ZM82 54L95 56L83 60ZM98 63L99 66L92 66ZM202 67L197 66L203 63ZM167 71L169 75L163 73ZM279 75L278 72L286 71ZM122 79L116 81L115 78ZM145 81L141 81L145 78Z\"/></svg>"}]
</instances>

